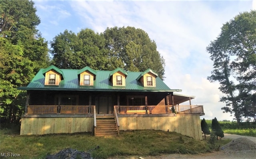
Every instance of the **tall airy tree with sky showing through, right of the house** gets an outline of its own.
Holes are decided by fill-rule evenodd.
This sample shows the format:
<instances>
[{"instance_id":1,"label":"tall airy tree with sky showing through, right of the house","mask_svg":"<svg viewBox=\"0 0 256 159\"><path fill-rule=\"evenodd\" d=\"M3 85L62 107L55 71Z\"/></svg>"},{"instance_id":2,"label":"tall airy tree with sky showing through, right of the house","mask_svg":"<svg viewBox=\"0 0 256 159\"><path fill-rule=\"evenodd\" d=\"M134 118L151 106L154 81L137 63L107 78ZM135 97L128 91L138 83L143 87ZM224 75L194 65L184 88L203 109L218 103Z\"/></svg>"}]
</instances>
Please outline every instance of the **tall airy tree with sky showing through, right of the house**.
<instances>
[{"instance_id":1,"label":"tall airy tree with sky showing through, right of the house","mask_svg":"<svg viewBox=\"0 0 256 159\"><path fill-rule=\"evenodd\" d=\"M243 118L256 119L256 11L240 13L226 22L217 39L207 47L214 62L211 82L220 83L226 96L222 108L234 114L238 123Z\"/></svg>"}]
</instances>

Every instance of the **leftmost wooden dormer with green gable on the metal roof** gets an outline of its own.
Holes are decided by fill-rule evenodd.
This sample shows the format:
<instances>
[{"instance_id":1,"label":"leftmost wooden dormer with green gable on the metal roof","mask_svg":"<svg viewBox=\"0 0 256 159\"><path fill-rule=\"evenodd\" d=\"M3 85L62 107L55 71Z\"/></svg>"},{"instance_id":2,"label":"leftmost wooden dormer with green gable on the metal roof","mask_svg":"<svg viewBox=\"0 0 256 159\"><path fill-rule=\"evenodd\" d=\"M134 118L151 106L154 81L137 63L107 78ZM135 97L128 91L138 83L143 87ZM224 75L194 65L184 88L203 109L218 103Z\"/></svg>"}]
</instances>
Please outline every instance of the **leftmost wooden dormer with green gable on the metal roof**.
<instances>
[{"instance_id":1,"label":"leftmost wooden dormer with green gable on the metal roof","mask_svg":"<svg viewBox=\"0 0 256 159\"><path fill-rule=\"evenodd\" d=\"M54 65L51 65L50 67L44 69L42 73L45 77L45 86L58 86L60 84L60 81L64 79L62 71Z\"/></svg>"}]
</instances>

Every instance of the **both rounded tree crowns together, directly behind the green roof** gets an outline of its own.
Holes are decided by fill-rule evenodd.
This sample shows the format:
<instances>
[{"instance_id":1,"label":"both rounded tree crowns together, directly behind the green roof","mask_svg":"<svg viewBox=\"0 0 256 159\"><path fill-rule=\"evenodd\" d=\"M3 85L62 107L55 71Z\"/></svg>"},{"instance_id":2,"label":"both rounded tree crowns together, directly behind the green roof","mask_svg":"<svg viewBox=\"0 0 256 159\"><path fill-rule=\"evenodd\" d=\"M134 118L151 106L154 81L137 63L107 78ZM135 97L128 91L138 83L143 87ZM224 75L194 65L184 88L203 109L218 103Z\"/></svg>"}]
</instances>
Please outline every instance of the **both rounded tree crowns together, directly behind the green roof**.
<instances>
[{"instance_id":1,"label":"both rounded tree crowns together, directly behind the green roof","mask_svg":"<svg viewBox=\"0 0 256 159\"><path fill-rule=\"evenodd\" d=\"M82 29L65 30L51 42L52 64L59 68L145 71L148 68L164 78L164 59L156 43L142 29L135 27L107 28L103 33Z\"/></svg>"}]
</instances>

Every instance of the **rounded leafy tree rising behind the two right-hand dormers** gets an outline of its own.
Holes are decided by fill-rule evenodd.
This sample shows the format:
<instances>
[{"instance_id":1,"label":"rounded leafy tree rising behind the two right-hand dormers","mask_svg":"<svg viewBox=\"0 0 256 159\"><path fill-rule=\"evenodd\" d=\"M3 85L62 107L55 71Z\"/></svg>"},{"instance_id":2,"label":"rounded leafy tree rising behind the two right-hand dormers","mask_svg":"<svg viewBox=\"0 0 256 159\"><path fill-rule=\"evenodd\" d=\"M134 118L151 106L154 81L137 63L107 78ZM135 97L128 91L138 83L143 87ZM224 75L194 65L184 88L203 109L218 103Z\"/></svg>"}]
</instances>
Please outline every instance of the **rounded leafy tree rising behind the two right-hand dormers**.
<instances>
[{"instance_id":1,"label":"rounded leafy tree rising behind the two right-hand dormers","mask_svg":"<svg viewBox=\"0 0 256 159\"><path fill-rule=\"evenodd\" d=\"M112 57L112 69L122 67L126 71L145 71L151 68L164 78L164 58L144 30L129 26L112 27L103 34L109 57Z\"/></svg>"}]
</instances>

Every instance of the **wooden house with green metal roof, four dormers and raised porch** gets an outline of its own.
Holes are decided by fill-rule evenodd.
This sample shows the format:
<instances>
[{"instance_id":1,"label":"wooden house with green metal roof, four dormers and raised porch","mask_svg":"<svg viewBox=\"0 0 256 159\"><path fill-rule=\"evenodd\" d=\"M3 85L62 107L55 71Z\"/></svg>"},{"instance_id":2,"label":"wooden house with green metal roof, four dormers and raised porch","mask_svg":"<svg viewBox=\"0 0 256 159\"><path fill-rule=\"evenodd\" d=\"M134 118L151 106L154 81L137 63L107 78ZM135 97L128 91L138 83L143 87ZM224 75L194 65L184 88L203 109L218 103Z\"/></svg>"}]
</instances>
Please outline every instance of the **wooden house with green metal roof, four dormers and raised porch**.
<instances>
[{"instance_id":1,"label":"wooden house with green metal roof, four dormers and raised porch","mask_svg":"<svg viewBox=\"0 0 256 159\"><path fill-rule=\"evenodd\" d=\"M118 135L120 130L163 130L202 140L203 106L194 96L175 94L152 69L129 72L40 69L26 87L20 135L92 132ZM189 101L190 105L179 105Z\"/></svg>"}]
</instances>

